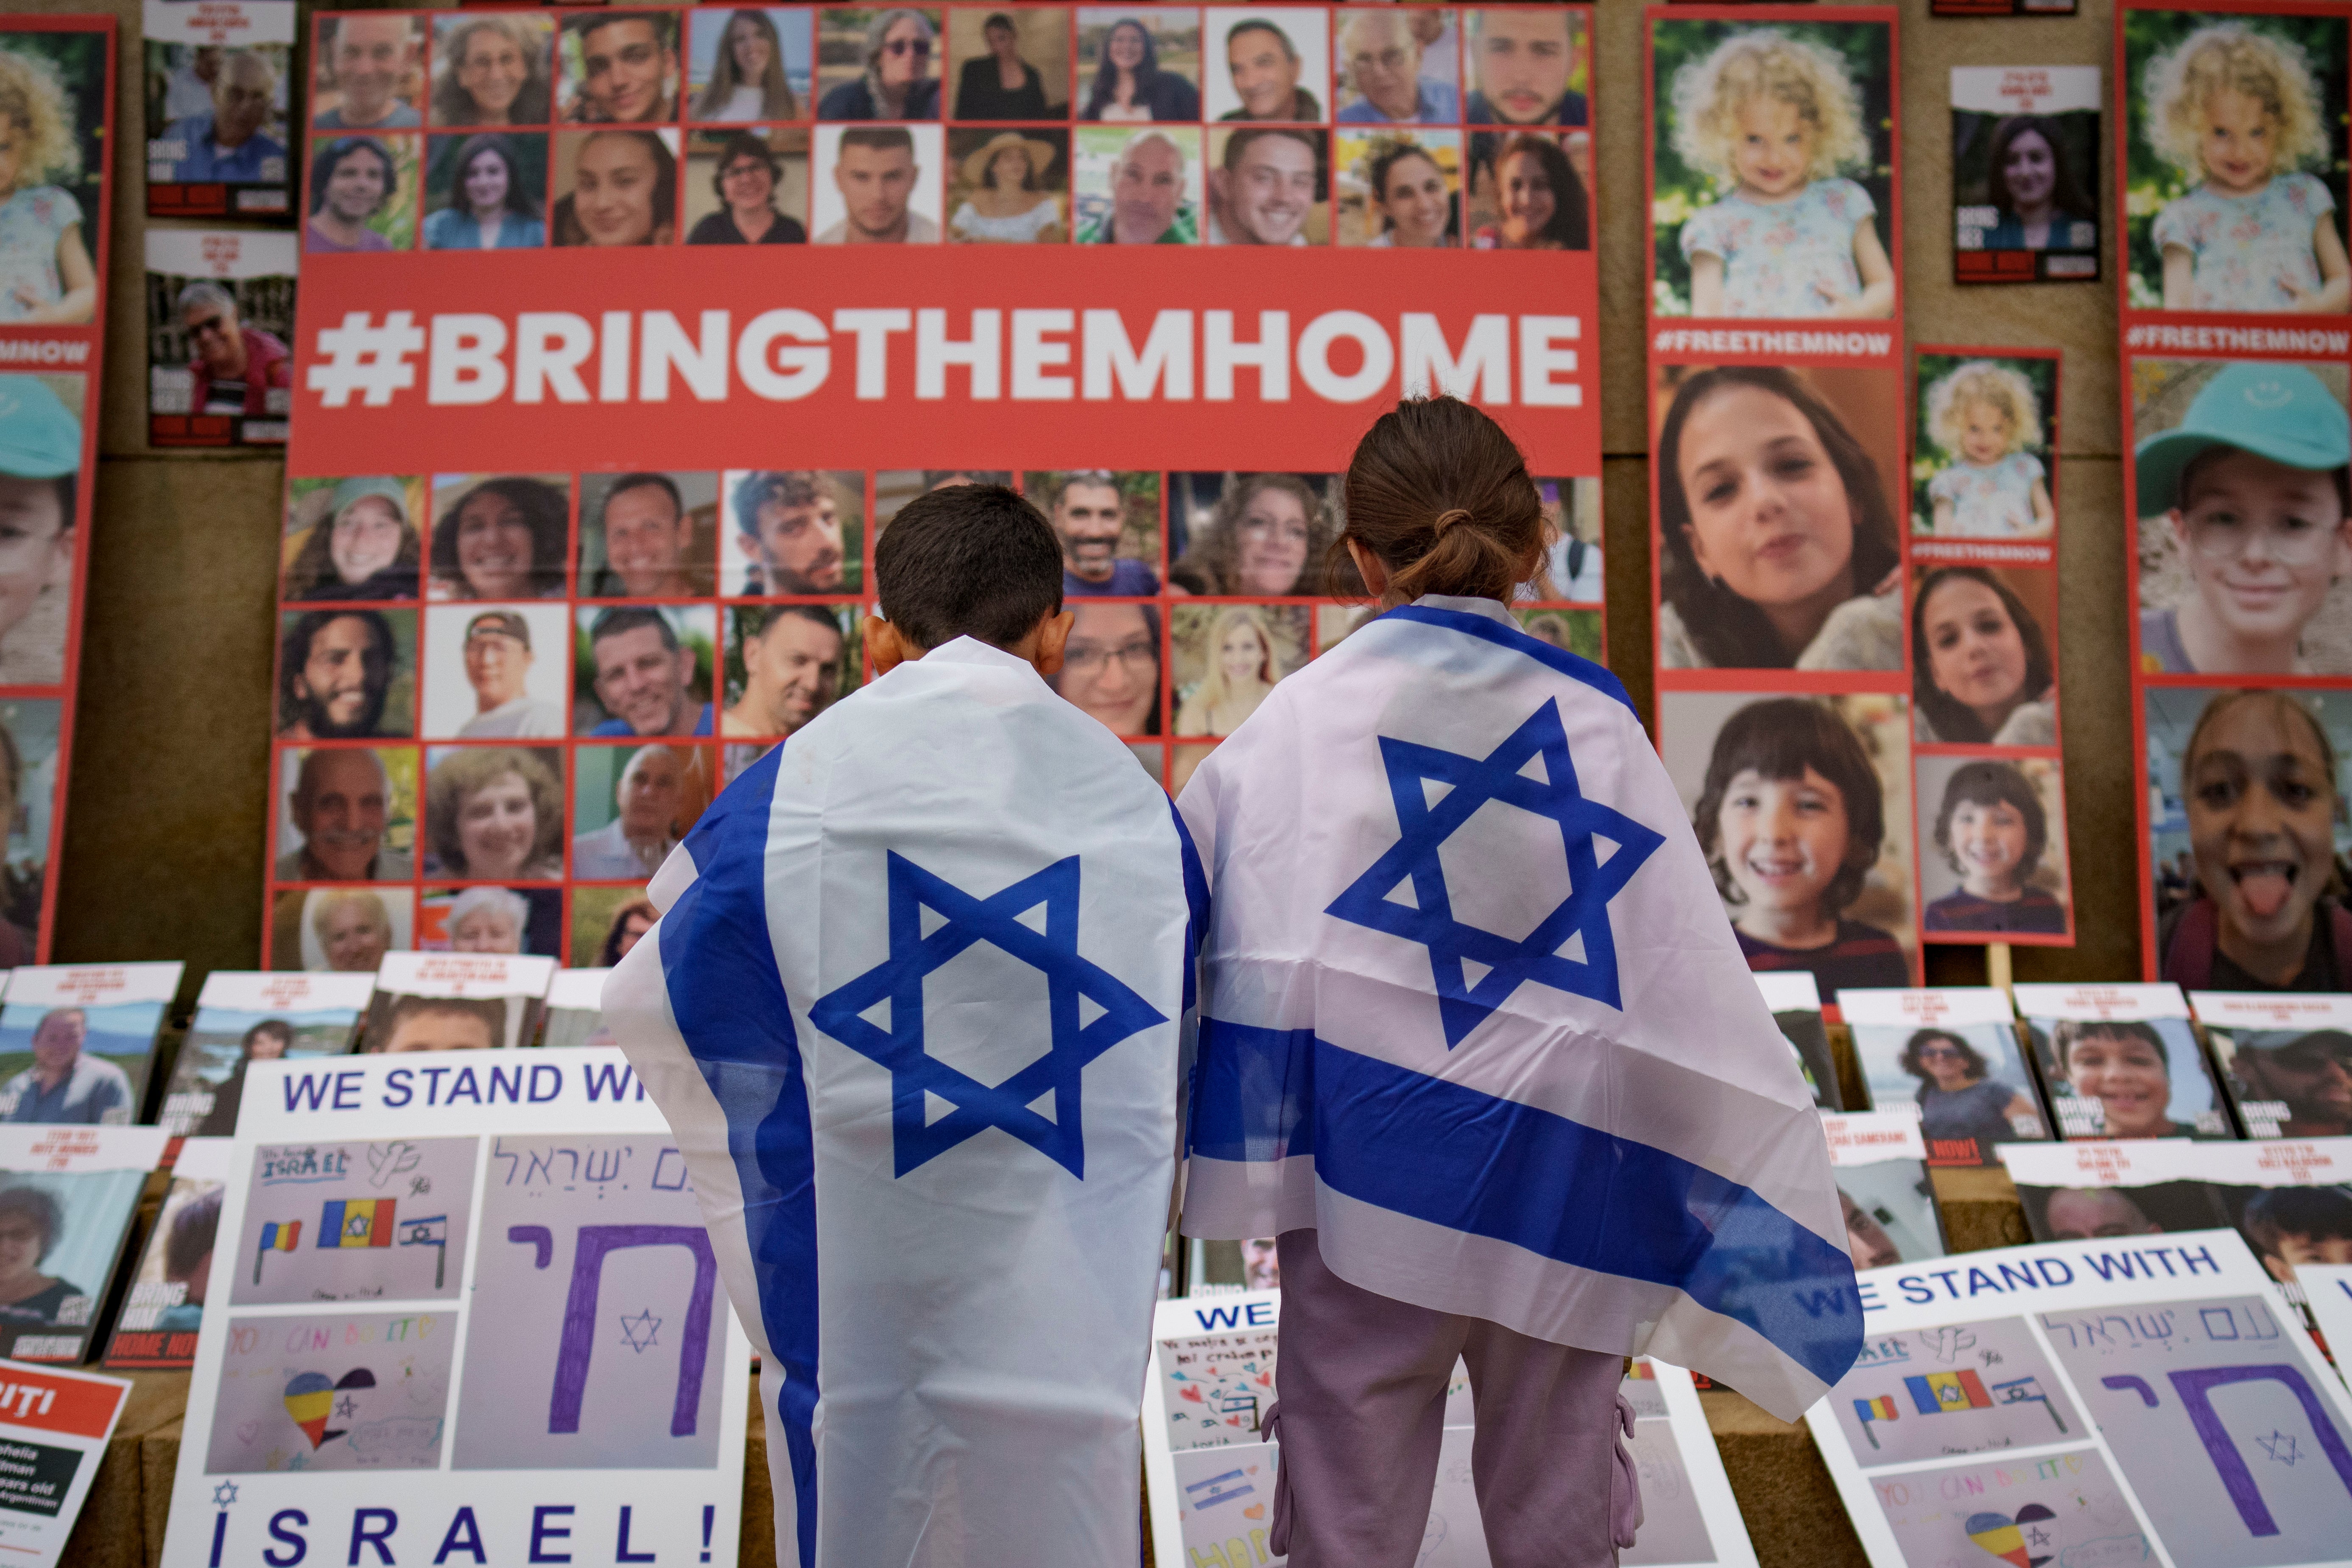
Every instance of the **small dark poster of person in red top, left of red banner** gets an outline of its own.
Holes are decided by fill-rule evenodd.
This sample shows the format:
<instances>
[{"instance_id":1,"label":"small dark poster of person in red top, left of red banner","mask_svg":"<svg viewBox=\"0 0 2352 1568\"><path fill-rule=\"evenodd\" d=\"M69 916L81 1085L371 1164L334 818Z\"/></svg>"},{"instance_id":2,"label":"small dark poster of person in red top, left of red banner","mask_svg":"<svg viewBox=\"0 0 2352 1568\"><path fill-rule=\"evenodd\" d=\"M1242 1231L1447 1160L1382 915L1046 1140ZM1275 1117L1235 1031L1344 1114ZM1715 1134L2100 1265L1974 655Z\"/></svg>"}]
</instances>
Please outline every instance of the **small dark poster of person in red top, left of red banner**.
<instances>
[{"instance_id":1,"label":"small dark poster of person in red top, left of red banner","mask_svg":"<svg viewBox=\"0 0 2352 1568\"><path fill-rule=\"evenodd\" d=\"M282 447L294 409L294 235L151 228L146 252L148 444Z\"/></svg>"}]
</instances>

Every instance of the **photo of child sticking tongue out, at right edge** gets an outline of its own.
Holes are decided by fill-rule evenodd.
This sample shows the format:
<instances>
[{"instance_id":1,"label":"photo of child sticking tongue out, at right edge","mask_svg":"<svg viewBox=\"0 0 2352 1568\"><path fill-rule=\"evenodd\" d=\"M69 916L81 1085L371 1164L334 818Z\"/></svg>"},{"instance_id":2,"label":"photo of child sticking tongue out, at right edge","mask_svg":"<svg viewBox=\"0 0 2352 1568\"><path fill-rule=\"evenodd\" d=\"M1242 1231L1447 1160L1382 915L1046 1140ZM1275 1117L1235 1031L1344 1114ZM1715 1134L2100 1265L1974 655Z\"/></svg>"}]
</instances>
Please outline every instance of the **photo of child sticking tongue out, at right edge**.
<instances>
[{"instance_id":1,"label":"photo of child sticking tongue out, at right edge","mask_svg":"<svg viewBox=\"0 0 2352 1568\"><path fill-rule=\"evenodd\" d=\"M2187 990L2352 990L2352 849L2338 759L2352 693L2150 686L2157 978Z\"/></svg>"}]
</instances>

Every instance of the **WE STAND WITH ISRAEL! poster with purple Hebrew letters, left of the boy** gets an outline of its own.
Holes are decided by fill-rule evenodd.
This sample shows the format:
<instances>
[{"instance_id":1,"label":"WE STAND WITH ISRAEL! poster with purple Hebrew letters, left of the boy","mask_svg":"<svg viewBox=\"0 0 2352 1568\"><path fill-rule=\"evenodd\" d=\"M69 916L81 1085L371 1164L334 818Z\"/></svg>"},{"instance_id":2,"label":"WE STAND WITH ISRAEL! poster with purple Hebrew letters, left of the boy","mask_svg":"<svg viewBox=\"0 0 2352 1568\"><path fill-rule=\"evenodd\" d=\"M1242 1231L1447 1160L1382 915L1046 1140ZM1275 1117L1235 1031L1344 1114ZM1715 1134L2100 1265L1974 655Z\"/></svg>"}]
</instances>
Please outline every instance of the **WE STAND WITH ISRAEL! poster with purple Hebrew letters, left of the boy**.
<instances>
[{"instance_id":1,"label":"WE STAND WITH ISRAEL! poster with purple Hebrew letters, left of the boy","mask_svg":"<svg viewBox=\"0 0 2352 1568\"><path fill-rule=\"evenodd\" d=\"M734 1566L750 1342L684 1159L619 1051L496 1060L256 1067L172 1568Z\"/></svg>"}]
</instances>

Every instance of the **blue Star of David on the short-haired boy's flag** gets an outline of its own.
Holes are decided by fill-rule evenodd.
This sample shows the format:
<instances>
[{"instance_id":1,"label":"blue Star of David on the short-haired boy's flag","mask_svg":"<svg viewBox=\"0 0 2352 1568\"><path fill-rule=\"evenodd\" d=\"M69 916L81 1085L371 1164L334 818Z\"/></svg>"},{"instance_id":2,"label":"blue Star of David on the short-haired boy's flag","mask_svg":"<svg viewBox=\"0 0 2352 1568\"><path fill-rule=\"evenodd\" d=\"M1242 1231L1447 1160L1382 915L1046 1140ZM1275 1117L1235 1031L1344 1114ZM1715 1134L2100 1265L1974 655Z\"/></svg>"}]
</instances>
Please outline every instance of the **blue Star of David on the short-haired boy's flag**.
<instances>
[{"instance_id":1,"label":"blue Star of David on the short-haired boy's flag","mask_svg":"<svg viewBox=\"0 0 2352 1568\"><path fill-rule=\"evenodd\" d=\"M1021 919L1037 905L1044 905L1042 933ZM929 936L922 933L924 910L946 922ZM981 1084L929 1056L922 1044L924 976L974 943L993 943L1047 978L1051 1046L1002 1084ZM1080 1025L1080 999L1103 1009L1094 1023ZM861 1018L877 1001L889 1001L889 1027ZM1056 860L1002 893L974 898L894 851L889 957L818 997L809 1023L889 1067L891 1159L898 1175L995 1126L1084 1180L1082 1072L1103 1051L1164 1018L1110 971L1077 957L1077 856ZM1051 1117L1035 1110L1049 1093ZM931 1119L924 1095L946 1100L950 1110Z\"/></svg>"}]
</instances>

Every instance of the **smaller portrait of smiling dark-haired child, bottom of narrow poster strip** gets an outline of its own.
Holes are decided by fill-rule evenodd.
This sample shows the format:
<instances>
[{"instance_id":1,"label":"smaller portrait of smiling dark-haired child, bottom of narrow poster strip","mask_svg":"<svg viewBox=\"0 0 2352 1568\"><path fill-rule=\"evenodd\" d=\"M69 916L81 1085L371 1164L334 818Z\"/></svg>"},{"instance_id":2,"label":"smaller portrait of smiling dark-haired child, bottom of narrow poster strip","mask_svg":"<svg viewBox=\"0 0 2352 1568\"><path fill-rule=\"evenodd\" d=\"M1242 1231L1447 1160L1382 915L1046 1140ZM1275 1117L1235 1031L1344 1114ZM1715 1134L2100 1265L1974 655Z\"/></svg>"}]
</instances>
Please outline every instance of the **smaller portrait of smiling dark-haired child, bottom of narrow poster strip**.
<instances>
[{"instance_id":1,"label":"smaller portrait of smiling dark-haired child, bottom of narrow poster strip","mask_svg":"<svg viewBox=\"0 0 2352 1568\"><path fill-rule=\"evenodd\" d=\"M2056 757L1922 755L1917 795L1926 940L2074 933Z\"/></svg>"}]
</instances>

